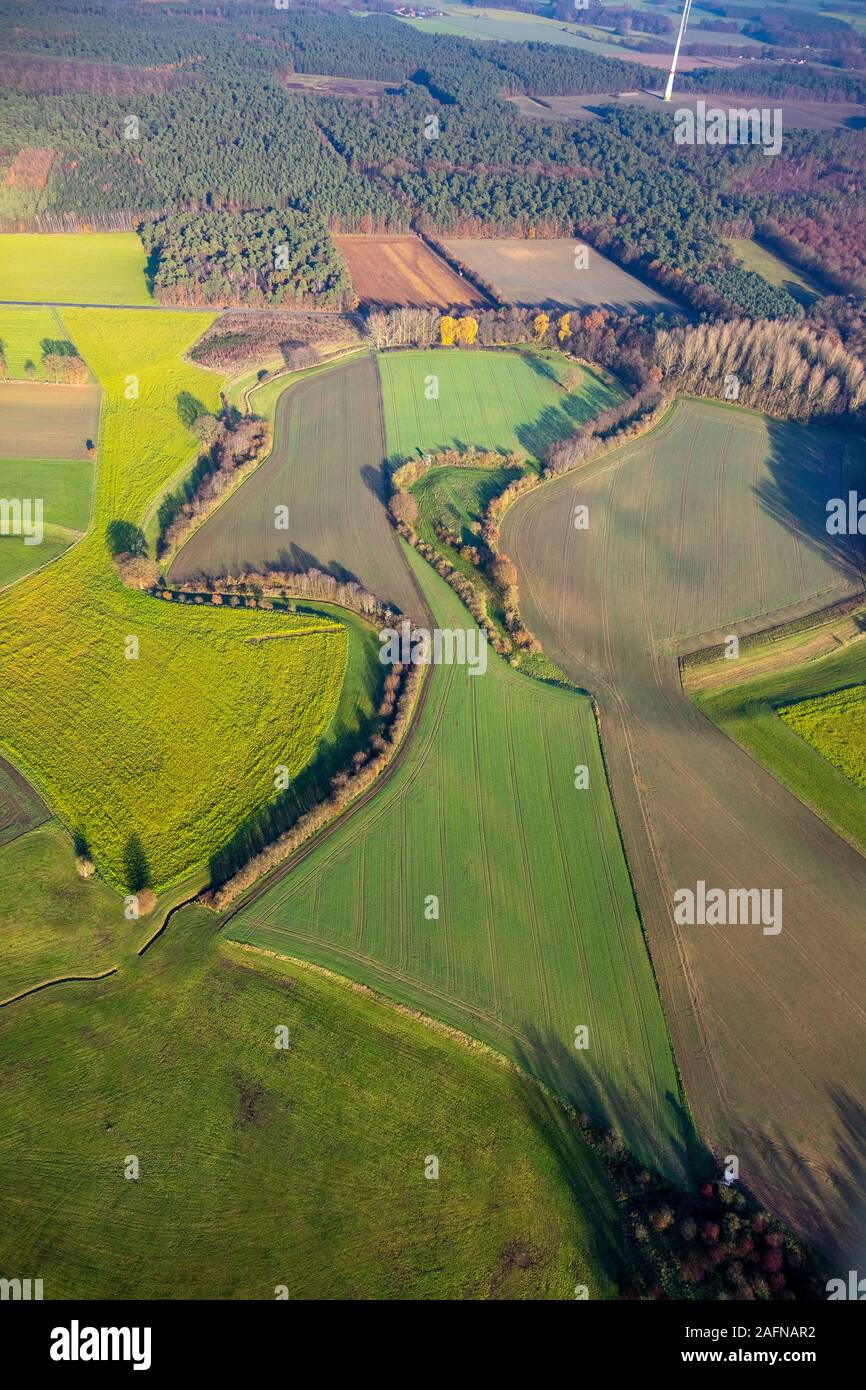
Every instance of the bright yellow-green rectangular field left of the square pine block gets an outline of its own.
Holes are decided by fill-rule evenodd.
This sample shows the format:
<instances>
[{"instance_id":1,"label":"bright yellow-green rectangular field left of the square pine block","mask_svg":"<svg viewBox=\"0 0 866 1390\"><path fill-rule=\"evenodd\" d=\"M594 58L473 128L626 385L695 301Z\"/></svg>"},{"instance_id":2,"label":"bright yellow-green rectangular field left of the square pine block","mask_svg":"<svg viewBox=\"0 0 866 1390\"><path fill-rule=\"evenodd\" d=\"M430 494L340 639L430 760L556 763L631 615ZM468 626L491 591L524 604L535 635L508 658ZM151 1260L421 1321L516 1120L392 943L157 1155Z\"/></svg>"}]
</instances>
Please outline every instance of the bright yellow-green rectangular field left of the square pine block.
<instances>
[{"instance_id":1,"label":"bright yellow-green rectangular field left of the square pine block","mask_svg":"<svg viewBox=\"0 0 866 1390\"><path fill-rule=\"evenodd\" d=\"M145 265L135 232L4 232L0 299L149 304Z\"/></svg>"}]
</instances>

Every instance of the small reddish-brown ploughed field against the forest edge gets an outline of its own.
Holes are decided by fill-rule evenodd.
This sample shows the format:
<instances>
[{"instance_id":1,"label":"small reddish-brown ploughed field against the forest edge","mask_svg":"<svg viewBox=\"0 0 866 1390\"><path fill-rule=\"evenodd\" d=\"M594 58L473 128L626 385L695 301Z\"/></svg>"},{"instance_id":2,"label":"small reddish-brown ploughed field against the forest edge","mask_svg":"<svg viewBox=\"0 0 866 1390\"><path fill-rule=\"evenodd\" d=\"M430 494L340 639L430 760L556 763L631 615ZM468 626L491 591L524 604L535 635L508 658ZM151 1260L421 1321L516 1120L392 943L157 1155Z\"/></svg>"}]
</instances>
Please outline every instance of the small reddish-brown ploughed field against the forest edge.
<instances>
[{"instance_id":1,"label":"small reddish-brown ploughed field against the forest edge","mask_svg":"<svg viewBox=\"0 0 866 1390\"><path fill-rule=\"evenodd\" d=\"M456 275L420 236L335 236L357 296L395 309L470 309L485 300Z\"/></svg>"}]
</instances>

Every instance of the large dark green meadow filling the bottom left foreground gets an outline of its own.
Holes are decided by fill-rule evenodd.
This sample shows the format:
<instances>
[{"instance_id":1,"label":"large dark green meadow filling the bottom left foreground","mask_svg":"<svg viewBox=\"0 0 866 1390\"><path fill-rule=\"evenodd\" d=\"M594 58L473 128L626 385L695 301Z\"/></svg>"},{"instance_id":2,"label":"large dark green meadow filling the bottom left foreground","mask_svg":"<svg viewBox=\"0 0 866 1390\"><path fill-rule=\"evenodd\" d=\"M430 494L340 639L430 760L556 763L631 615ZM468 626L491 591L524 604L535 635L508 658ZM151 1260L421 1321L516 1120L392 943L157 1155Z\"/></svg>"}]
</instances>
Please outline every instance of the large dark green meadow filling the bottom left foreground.
<instances>
[{"instance_id":1,"label":"large dark green meadow filling the bottom left foreground","mask_svg":"<svg viewBox=\"0 0 866 1390\"><path fill-rule=\"evenodd\" d=\"M26 927L25 976L65 973L56 894L70 909L100 897L79 890L31 883L24 917L4 892L0 951L11 937L21 965ZM53 926L36 920L46 902ZM211 923L185 909L111 979L0 1008L4 1272L38 1270L46 1298L617 1295L613 1193L535 1087ZM82 966L122 958L117 935L96 948L100 930L71 922Z\"/></svg>"}]
</instances>

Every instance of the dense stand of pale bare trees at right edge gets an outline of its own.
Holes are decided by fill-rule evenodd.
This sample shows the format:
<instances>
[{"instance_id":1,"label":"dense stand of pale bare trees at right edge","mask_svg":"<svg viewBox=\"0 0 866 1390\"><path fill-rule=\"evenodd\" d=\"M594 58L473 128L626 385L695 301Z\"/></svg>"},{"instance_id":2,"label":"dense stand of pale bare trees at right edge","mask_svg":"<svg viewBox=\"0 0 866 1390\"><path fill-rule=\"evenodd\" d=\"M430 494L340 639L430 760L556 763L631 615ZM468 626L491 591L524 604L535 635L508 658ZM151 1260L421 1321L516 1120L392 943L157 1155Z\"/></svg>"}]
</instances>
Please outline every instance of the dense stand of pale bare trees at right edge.
<instances>
[{"instance_id":1,"label":"dense stand of pale bare trees at right edge","mask_svg":"<svg viewBox=\"0 0 866 1390\"><path fill-rule=\"evenodd\" d=\"M655 360L681 391L783 418L856 414L866 406L863 363L838 341L792 321L674 328L656 336Z\"/></svg>"}]
</instances>

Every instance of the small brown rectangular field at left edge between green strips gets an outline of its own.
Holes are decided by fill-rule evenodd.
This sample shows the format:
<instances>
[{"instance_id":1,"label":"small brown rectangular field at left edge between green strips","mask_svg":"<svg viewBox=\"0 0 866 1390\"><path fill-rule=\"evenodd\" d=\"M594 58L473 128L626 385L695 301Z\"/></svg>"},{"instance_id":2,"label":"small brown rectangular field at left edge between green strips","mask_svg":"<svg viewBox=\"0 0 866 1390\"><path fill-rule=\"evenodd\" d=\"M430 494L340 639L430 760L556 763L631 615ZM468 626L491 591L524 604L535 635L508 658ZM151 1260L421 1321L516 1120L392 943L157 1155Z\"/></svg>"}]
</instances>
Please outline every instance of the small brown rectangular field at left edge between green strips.
<instances>
[{"instance_id":1,"label":"small brown rectangular field at left edge between green strips","mask_svg":"<svg viewBox=\"0 0 866 1390\"><path fill-rule=\"evenodd\" d=\"M99 435L99 386L0 382L0 459L88 459Z\"/></svg>"}]
</instances>

